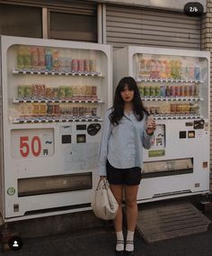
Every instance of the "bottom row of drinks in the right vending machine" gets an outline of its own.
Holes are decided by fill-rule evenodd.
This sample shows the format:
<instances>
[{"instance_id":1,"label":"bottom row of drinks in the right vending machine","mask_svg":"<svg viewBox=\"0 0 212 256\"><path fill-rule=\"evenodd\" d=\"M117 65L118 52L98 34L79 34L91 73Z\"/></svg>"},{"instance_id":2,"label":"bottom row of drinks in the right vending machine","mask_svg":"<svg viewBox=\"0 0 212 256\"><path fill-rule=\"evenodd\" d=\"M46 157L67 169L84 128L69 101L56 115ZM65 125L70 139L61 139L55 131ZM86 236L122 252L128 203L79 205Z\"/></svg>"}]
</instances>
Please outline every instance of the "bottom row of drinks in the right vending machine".
<instances>
[{"instance_id":1,"label":"bottom row of drinks in the right vending machine","mask_svg":"<svg viewBox=\"0 0 212 256\"><path fill-rule=\"evenodd\" d=\"M149 114L199 114L197 104L160 104L148 105L146 110Z\"/></svg>"}]
</instances>

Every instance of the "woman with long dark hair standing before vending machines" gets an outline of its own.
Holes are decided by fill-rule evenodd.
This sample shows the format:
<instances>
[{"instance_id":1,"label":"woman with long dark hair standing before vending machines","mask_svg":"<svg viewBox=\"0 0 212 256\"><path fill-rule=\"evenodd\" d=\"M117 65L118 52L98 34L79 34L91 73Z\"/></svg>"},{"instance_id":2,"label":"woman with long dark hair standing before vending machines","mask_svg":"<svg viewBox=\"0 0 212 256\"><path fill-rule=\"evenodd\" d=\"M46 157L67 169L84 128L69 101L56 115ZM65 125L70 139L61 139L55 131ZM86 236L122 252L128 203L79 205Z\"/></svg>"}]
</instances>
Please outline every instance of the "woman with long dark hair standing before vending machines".
<instances>
[{"instance_id":1,"label":"woman with long dark hair standing before vending machines","mask_svg":"<svg viewBox=\"0 0 212 256\"><path fill-rule=\"evenodd\" d=\"M137 225L137 190L141 179L143 147L153 142L155 120L147 117L134 78L122 78L116 88L113 106L104 118L100 147L100 176L107 178L119 203L114 220L116 253L134 255ZM128 234L126 247L122 232L122 199L125 193Z\"/></svg>"}]
</instances>

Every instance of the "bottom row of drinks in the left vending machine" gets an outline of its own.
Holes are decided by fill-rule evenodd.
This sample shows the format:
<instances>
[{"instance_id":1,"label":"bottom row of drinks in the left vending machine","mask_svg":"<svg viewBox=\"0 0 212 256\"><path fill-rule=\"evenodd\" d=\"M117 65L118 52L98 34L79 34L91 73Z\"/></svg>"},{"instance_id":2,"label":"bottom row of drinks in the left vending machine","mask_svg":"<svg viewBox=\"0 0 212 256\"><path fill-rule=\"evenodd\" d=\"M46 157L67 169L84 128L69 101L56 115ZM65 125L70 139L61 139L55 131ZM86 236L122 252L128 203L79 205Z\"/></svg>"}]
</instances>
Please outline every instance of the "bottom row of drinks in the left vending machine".
<instances>
[{"instance_id":1,"label":"bottom row of drinks in the left vending machine","mask_svg":"<svg viewBox=\"0 0 212 256\"><path fill-rule=\"evenodd\" d=\"M25 116L96 116L97 106L71 104L22 103L18 106L20 117Z\"/></svg>"}]
</instances>

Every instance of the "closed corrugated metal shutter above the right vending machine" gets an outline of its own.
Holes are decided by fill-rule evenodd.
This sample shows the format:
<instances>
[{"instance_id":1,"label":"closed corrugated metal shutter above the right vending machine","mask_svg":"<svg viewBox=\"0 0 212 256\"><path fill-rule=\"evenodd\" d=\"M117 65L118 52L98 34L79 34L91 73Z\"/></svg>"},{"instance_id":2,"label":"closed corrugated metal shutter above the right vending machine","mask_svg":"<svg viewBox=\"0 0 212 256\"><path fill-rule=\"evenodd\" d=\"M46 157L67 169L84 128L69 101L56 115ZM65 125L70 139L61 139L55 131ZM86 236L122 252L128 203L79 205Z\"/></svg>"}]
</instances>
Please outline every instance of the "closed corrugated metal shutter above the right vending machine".
<instances>
[{"instance_id":1,"label":"closed corrugated metal shutter above the right vending machine","mask_svg":"<svg viewBox=\"0 0 212 256\"><path fill-rule=\"evenodd\" d=\"M106 5L106 40L127 45L200 50L200 18L139 7Z\"/></svg>"}]
</instances>

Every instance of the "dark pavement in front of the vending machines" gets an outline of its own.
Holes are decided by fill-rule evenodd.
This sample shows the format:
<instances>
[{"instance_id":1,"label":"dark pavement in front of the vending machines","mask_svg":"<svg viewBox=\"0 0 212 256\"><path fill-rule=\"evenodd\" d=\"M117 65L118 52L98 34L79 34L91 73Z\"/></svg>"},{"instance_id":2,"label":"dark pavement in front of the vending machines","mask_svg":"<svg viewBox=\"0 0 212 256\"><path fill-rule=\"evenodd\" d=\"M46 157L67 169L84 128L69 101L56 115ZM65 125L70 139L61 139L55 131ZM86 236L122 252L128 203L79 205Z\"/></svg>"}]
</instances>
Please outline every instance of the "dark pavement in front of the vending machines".
<instances>
[{"instance_id":1,"label":"dark pavement in front of the vending machines","mask_svg":"<svg viewBox=\"0 0 212 256\"><path fill-rule=\"evenodd\" d=\"M206 213L212 220L212 213ZM125 233L126 234L126 233ZM3 256L115 256L115 232L111 226L89 228L53 236L23 240L20 251L0 252ZM205 233L146 244L136 233L137 256L212 256L212 226Z\"/></svg>"}]
</instances>

